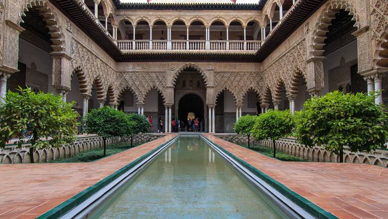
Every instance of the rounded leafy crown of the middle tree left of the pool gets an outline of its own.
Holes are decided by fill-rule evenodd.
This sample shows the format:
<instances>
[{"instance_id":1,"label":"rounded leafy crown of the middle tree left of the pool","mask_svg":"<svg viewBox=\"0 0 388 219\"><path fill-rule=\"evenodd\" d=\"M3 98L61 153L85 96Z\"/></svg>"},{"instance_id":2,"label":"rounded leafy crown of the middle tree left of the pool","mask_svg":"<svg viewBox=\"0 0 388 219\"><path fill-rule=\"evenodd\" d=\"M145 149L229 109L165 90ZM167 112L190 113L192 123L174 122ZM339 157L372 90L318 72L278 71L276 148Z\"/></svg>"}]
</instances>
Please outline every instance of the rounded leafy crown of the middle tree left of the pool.
<instances>
[{"instance_id":1,"label":"rounded leafy crown of the middle tree left of the pool","mask_svg":"<svg viewBox=\"0 0 388 219\"><path fill-rule=\"evenodd\" d=\"M128 129L127 115L110 106L91 110L84 119L84 132L103 138L124 136Z\"/></svg>"}]
</instances>

